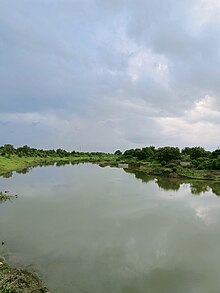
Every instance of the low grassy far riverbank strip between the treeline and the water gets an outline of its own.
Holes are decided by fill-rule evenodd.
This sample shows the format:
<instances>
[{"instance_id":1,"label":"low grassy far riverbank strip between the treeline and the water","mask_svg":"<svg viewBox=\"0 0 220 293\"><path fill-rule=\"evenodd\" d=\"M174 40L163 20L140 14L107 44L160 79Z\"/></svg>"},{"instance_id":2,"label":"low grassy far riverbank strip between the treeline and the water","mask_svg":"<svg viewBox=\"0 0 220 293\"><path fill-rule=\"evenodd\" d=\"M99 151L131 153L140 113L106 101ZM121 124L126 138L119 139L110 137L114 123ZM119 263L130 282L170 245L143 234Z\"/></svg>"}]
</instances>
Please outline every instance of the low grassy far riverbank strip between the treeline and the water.
<instances>
[{"instance_id":1,"label":"low grassy far riverbank strip between the treeline and the water","mask_svg":"<svg viewBox=\"0 0 220 293\"><path fill-rule=\"evenodd\" d=\"M94 163L100 167L119 167L133 171L141 171L147 175L162 176L168 178L188 178L196 180L213 180L220 182L220 171L197 170L183 167L179 162L162 166L158 162L146 162L134 159L125 159L120 156L106 154L106 156L84 155L67 157L9 157L0 156L0 176L10 177L13 171L25 172L25 169L44 165L65 165L77 163Z\"/></svg>"}]
</instances>

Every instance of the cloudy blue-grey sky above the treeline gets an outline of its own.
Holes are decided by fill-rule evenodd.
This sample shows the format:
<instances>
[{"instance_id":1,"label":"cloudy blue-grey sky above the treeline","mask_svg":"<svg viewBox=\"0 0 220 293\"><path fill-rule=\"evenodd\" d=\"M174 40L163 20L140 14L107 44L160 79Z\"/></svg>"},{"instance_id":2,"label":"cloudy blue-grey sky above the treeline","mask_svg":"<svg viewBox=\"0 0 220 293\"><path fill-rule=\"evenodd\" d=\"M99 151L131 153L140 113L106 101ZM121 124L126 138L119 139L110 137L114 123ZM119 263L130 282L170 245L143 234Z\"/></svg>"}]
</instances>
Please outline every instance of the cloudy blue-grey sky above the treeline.
<instances>
[{"instance_id":1,"label":"cloudy blue-grey sky above the treeline","mask_svg":"<svg viewBox=\"0 0 220 293\"><path fill-rule=\"evenodd\" d=\"M0 145L220 145L220 0L1 0Z\"/></svg>"}]
</instances>

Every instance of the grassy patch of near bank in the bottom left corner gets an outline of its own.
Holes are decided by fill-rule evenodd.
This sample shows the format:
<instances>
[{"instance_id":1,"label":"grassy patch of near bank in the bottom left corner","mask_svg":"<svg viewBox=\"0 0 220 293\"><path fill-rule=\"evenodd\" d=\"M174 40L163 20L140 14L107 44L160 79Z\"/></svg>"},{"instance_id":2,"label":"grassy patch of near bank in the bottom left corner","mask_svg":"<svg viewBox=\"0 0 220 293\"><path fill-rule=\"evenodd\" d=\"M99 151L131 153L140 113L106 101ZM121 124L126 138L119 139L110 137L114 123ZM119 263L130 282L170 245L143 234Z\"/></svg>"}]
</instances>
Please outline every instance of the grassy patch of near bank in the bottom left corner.
<instances>
[{"instance_id":1,"label":"grassy patch of near bank in the bottom left corner","mask_svg":"<svg viewBox=\"0 0 220 293\"><path fill-rule=\"evenodd\" d=\"M0 257L0 292L1 293L47 293L37 275L23 269L10 267Z\"/></svg>"}]
</instances>

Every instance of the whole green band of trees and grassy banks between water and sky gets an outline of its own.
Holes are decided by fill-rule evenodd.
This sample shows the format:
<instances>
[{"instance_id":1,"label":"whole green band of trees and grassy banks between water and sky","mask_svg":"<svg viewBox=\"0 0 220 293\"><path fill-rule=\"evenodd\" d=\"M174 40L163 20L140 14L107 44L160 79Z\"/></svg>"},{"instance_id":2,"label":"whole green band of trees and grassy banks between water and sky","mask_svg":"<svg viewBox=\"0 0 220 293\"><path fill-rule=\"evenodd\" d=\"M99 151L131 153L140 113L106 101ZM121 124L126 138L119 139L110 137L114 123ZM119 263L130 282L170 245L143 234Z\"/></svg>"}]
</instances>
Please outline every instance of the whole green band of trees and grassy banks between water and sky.
<instances>
[{"instance_id":1,"label":"whole green band of trees and grassy banks between water and sky","mask_svg":"<svg viewBox=\"0 0 220 293\"><path fill-rule=\"evenodd\" d=\"M5 144L0 147L0 175L10 177L12 171L26 172L29 167L38 165L57 166L67 163L92 162L102 167L122 166L139 170L150 175L187 177L220 181L220 149L207 151L202 147L148 146L117 150L114 154L103 152L77 152L64 149L43 150L27 145L14 147ZM26 168L26 169L25 169Z\"/></svg>"}]
</instances>

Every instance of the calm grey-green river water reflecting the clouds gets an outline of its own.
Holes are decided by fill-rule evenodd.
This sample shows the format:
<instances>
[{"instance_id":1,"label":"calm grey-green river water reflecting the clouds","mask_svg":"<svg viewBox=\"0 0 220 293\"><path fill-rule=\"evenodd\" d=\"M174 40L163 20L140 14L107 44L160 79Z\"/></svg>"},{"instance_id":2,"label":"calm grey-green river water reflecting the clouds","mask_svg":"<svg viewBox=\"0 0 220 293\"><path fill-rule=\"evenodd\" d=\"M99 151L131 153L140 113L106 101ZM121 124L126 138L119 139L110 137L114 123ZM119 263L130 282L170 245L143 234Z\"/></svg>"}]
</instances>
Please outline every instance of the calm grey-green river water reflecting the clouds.
<instances>
[{"instance_id":1,"label":"calm grey-green river water reflecting the clouds","mask_svg":"<svg viewBox=\"0 0 220 293\"><path fill-rule=\"evenodd\" d=\"M0 206L0 254L51 293L219 293L220 197L145 181L91 164L0 178L19 195Z\"/></svg>"}]
</instances>

